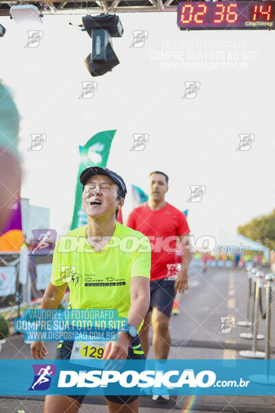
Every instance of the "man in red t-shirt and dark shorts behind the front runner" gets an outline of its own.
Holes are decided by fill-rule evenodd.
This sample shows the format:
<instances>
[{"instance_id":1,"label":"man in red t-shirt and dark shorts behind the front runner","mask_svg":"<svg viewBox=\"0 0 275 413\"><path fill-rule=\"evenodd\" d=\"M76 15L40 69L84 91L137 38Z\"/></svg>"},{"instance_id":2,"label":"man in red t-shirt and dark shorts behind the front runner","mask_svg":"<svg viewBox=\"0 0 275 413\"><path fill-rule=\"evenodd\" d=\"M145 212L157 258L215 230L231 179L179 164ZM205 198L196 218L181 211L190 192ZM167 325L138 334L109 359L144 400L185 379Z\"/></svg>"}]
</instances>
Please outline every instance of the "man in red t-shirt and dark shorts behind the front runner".
<instances>
[{"instance_id":1,"label":"man in red t-shirt and dark shorts behind the front runner","mask_svg":"<svg viewBox=\"0 0 275 413\"><path fill-rule=\"evenodd\" d=\"M186 237L190 233L184 213L165 201L168 191L168 176L160 171L149 176L148 201L135 208L129 215L127 226L146 235L152 248L151 255L151 304L144 319L140 340L144 353L148 354L148 330L153 325L153 350L155 359L168 358L170 349L169 319L176 293L188 289L187 270L192 259ZM184 246L181 270L175 271L177 241ZM164 399L168 395L162 396ZM153 396L157 400L159 396Z\"/></svg>"}]
</instances>

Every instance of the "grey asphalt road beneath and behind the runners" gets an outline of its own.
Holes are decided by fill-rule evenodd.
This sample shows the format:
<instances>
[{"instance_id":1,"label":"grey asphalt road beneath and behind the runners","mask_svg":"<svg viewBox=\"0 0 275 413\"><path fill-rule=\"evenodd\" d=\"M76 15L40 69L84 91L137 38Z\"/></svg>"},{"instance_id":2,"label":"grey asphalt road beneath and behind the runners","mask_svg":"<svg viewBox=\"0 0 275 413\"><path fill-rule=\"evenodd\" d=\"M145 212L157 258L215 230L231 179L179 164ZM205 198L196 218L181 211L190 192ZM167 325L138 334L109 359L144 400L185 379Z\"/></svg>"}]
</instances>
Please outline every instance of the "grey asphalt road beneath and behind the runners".
<instances>
[{"instance_id":1,"label":"grey asphalt road beneath and behind the runners","mask_svg":"<svg viewBox=\"0 0 275 413\"><path fill-rule=\"evenodd\" d=\"M248 279L245 271L200 269L190 271L188 292L181 297L180 315L172 316L170 333L171 359L241 359L240 348L250 348L251 340L241 339L239 332L248 331L236 323L227 334L219 333L220 317L235 317L235 321L246 319ZM263 296L265 297L265 296ZM272 320L272 347L274 349L274 318ZM265 324L260 320L259 330L265 332ZM48 358L54 358L56 343L47 343ZM259 341L263 348L263 341ZM274 357L272 354L272 358ZM21 335L13 335L3 346L1 359L30 359L30 346L23 342ZM150 350L149 358L153 357ZM104 399L100 396L85 398L81 412L107 412ZM140 413L169 412L234 412L234 413L274 413L273 396L178 396L168 403L154 403L150 397L141 398ZM42 412L42 401L30 399L0 399L0 413ZM91 406L92 405L92 406ZM189 406L188 410L186 408ZM164 410L165 409L165 410ZM193 409L193 410L190 410Z\"/></svg>"}]
</instances>

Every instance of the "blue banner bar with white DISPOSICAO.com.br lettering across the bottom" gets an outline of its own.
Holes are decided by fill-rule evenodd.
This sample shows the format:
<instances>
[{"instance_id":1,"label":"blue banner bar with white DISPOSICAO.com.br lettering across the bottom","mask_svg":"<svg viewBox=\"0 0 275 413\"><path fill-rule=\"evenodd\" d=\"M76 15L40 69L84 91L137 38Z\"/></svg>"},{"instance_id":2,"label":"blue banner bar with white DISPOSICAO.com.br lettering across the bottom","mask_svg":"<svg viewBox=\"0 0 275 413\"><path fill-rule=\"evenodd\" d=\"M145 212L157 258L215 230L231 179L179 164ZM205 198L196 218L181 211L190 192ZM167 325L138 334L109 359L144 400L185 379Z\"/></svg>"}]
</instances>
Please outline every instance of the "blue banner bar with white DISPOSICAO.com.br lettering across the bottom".
<instances>
[{"instance_id":1,"label":"blue banner bar with white DISPOSICAO.com.br lettering across the bottom","mask_svg":"<svg viewBox=\"0 0 275 413\"><path fill-rule=\"evenodd\" d=\"M274 394L275 360L90 361L0 360L0 394Z\"/></svg>"}]
</instances>

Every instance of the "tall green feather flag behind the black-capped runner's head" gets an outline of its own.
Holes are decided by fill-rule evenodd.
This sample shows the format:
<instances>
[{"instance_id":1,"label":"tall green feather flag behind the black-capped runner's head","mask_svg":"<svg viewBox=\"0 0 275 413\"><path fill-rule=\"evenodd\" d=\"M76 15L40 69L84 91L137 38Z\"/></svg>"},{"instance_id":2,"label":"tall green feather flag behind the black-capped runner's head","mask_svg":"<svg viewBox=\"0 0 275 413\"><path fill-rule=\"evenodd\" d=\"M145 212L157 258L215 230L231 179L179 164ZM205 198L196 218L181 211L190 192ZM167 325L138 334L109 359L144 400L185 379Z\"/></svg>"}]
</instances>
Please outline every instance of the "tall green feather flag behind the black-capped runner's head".
<instances>
[{"instance_id":1,"label":"tall green feather flag behind the black-capped runner's head","mask_svg":"<svg viewBox=\"0 0 275 413\"><path fill-rule=\"evenodd\" d=\"M100 132L92 136L83 147L79 147L80 165L76 183L76 200L74 202L74 215L71 229L76 229L87 224L87 215L82 207L83 186L79 182L80 173L87 167L106 168L111 142L115 132L115 130Z\"/></svg>"}]
</instances>

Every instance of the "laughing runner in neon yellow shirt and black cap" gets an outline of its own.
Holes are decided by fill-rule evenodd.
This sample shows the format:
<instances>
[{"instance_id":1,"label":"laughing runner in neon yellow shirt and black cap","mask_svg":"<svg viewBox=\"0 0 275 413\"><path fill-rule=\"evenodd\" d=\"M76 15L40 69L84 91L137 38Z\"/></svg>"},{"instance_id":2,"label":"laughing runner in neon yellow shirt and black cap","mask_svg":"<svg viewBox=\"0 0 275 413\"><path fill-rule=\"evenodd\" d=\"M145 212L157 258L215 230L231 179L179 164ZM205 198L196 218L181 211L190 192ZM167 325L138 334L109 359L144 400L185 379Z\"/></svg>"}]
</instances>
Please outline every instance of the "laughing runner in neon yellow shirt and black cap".
<instances>
[{"instance_id":1,"label":"laughing runner in neon yellow shirt and black cap","mask_svg":"<svg viewBox=\"0 0 275 413\"><path fill-rule=\"evenodd\" d=\"M88 222L58 240L52 277L41 308L58 308L67 286L71 308L117 308L120 317L128 318L129 330L119 332L118 341L107 343L103 358L145 359L137 329L150 304L150 242L139 231L115 221L126 195L120 176L107 168L88 167L81 173L80 182ZM66 238L71 240L70 251ZM133 247L129 251L126 241L130 238ZM69 273L64 274L66 267ZM56 358L71 358L73 345L70 341L59 344ZM47 350L43 341L34 341L31 352L34 359L44 359ZM47 395L44 413L76 413L83 399L84 396ZM105 399L110 413L138 412L139 396Z\"/></svg>"}]
</instances>

